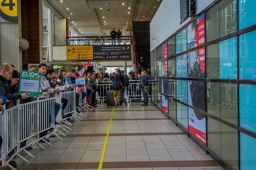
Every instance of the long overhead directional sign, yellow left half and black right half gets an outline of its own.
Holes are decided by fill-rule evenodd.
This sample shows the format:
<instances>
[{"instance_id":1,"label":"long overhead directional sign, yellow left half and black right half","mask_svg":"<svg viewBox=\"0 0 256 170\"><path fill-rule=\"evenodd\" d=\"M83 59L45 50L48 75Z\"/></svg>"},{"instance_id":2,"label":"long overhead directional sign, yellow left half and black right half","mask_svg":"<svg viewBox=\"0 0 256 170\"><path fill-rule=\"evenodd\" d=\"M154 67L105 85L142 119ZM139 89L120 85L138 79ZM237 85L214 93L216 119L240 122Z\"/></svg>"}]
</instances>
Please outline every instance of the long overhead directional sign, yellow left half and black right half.
<instances>
[{"instance_id":1,"label":"long overhead directional sign, yellow left half and black right half","mask_svg":"<svg viewBox=\"0 0 256 170\"><path fill-rule=\"evenodd\" d=\"M67 46L67 60L128 61L131 60L131 45Z\"/></svg>"}]
</instances>

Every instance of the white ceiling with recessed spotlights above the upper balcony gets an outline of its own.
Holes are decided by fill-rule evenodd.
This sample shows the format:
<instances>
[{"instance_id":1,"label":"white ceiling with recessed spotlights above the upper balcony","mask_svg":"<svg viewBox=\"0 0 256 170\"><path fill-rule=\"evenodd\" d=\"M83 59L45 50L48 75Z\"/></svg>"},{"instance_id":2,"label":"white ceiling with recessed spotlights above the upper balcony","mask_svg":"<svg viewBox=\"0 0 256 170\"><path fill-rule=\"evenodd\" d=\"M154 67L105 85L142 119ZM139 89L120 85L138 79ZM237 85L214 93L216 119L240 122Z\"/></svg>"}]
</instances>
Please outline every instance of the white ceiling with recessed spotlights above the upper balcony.
<instances>
[{"instance_id":1,"label":"white ceiling with recessed spotlights above the upper balcony","mask_svg":"<svg viewBox=\"0 0 256 170\"><path fill-rule=\"evenodd\" d=\"M107 31L111 31L112 28L116 30L120 29L121 32L123 32L122 26L125 25L127 21L151 21L162 2L162 0L46 1L55 8L62 17L67 18L67 20L70 21L70 27L73 27L80 35L108 35ZM122 5L122 3L125 3L125 5ZM128 9L128 7L131 9ZM69 8L69 10L67 10L67 8ZM128 14L128 12L130 12L130 14ZM70 17L70 19L68 17ZM81 31L79 31L79 29Z\"/></svg>"}]
</instances>

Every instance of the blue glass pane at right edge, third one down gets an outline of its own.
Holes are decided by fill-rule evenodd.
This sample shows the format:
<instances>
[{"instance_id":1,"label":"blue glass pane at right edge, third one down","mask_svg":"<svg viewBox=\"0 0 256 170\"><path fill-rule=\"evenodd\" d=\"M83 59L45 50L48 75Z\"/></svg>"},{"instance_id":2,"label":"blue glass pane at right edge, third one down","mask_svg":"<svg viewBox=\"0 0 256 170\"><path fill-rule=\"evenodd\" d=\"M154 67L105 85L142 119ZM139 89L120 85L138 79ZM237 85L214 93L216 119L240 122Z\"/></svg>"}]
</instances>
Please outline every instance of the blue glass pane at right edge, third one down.
<instances>
[{"instance_id":1,"label":"blue glass pane at right edge, third one down","mask_svg":"<svg viewBox=\"0 0 256 170\"><path fill-rule=\"evenodd\" d=\"M256 85L240 85L240 126L256 133Z\"/></svg>"}]
</instances>

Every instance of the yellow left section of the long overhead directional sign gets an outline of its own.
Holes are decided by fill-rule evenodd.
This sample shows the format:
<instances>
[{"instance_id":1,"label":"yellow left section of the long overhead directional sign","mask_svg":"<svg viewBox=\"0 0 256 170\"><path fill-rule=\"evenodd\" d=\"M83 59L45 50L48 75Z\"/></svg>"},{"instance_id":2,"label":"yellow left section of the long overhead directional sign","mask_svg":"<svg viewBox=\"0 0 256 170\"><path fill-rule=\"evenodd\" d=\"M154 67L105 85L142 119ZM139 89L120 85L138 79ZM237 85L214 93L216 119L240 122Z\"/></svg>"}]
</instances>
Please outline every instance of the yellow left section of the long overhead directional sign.
<instances>
[{"instance_id":1,"label":"yellow left section of the long overhead directional sign","mask_svg":"<svg viewBox=\"0 0 256 170\"><path fill-rule=\"evenodd\" d=\"M67 46L68 60L93 60L93 46L92 45L77 45Z\"/></svg>"}]
</instances>

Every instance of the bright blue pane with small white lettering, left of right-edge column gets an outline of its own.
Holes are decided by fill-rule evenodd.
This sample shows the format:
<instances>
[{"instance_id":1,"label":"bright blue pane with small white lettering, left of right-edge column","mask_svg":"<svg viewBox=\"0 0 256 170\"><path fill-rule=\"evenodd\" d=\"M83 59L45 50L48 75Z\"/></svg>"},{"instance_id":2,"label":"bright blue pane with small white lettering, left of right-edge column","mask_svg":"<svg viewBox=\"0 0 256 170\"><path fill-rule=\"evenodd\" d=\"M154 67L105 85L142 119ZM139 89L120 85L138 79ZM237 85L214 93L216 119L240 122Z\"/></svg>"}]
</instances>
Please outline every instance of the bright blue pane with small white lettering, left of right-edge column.
<instances>
[{"instance_id":1,"label":"bright blue pane with small white lettering, left of right-edge column","mask_svg":"<svg viewBox=\"0 0 256 170\"><path fill-rule=\"evenodd\" d=\"M236 37L219 42L220 79L237 79Z\"/></svg>"}]
</instances>

